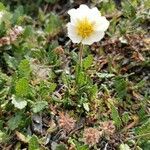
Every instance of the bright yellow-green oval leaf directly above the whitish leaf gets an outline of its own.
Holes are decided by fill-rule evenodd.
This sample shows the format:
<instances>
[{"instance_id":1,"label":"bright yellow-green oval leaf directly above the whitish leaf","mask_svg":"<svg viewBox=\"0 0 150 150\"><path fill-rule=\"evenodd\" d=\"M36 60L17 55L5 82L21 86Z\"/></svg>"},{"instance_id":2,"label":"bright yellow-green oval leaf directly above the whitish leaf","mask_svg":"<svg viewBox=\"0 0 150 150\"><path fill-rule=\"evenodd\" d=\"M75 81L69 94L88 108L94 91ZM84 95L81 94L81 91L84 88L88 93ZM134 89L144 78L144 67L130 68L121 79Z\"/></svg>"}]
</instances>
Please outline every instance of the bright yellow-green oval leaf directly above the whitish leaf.
<instances>
[{"instance_id":1,"label":"bright yellow-green oval leaf directly above the whitish leaf","mask_svg":"<svg viewBox=\"0 0 150 150\"><path fill-rule=\"evenodd\" d=\"M29 83L26 78L21 78L16 83L16 94L19 97L27 96L29 94Z\"/></svg>"}]
</instances>

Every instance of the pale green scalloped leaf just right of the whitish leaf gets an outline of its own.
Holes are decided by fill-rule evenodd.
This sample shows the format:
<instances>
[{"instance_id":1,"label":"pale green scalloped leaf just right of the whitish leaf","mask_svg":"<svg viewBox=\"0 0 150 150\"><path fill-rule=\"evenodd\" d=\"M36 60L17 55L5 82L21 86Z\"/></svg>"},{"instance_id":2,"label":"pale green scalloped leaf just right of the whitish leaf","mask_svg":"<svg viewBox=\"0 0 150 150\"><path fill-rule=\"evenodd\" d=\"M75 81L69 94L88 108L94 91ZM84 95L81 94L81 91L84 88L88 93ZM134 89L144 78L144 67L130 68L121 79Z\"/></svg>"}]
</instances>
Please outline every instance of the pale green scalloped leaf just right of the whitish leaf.
<instances>
[{"instance_id":1,"label":"pale green scalloped leaf just right of the whitish leaf","mask_svg":"<svg viewBox=\"0 0 150 150\"><path fill-rule=\"evenodd\" d=\"M48 105L48 103L46 101L36 102L33 105L33 112L38 113L38 112L42 111L43 109L45 109L47 105Z\"/></svg>"}]
</instances>

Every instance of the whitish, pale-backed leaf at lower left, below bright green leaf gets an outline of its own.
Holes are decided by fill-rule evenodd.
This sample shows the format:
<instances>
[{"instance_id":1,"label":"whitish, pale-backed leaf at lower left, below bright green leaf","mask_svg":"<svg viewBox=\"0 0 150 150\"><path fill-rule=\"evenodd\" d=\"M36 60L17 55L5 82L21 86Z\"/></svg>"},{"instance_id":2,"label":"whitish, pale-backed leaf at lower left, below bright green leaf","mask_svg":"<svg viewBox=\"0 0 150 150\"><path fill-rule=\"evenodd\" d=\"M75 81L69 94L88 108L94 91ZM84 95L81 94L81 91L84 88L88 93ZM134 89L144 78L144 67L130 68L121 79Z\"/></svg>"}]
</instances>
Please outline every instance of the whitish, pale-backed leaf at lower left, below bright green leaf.
<instances>
[{"instance_id":1,"label":"whitish, pale-backed leaf at lower left, below bright green leaf","mask_svg":"<svg viewBox=\"0 0 150 150\"><path fill-rule=\"evenodd\" d=\"M12 101L11 102L18 109L23 109L27 105L26 100L24 100L23 98L16 97L15 95L12 96Z\"/></svg>"}]
</instances>

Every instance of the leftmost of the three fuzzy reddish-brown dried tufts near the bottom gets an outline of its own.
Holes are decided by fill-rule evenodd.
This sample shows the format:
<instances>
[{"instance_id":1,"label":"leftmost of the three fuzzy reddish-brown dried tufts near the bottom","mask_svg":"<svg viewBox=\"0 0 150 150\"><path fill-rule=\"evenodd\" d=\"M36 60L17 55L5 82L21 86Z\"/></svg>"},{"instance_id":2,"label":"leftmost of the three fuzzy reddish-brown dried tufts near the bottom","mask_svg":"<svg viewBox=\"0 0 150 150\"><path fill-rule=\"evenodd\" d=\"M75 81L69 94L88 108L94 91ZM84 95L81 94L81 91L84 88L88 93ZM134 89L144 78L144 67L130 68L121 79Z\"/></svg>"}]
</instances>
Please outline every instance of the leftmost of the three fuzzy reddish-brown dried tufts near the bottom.
<instances>
[{"instance_id":1,"label":"leftmost of the three fuzzy reddish-brown dried tufts near the bottom","mask_svg":"<svg viewBox=\"0 0 150 150\"><path fill-rule=\"evenodd\" d=\"M62 128L66 133L69 133L75 127L76 120L70 117L68 114L59 113L59 126Z\"/></svg>"}]
</instances>

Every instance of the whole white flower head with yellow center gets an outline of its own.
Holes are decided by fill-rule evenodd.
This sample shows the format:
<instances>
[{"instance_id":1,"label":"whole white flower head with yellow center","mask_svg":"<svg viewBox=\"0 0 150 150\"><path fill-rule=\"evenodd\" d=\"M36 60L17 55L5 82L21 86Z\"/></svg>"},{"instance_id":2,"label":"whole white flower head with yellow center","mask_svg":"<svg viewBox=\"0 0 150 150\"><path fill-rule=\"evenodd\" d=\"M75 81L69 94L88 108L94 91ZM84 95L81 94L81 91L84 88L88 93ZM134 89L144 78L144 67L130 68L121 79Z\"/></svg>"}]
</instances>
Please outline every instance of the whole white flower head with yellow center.
<instances>
[{"instance_id":1,"label":"whole white flower head with yellow center","mask_svg":"<svg viewBox=\"0 0 150 150\"><path fill-rule=\"evenodd\" d=\"M69 10L68 14L71 18L67 24L68 36L73 43L91 45L104 37L109 21L101 16L96 7L90 9L82 4L77 9Z\"/></svg>"}]
</instances>

